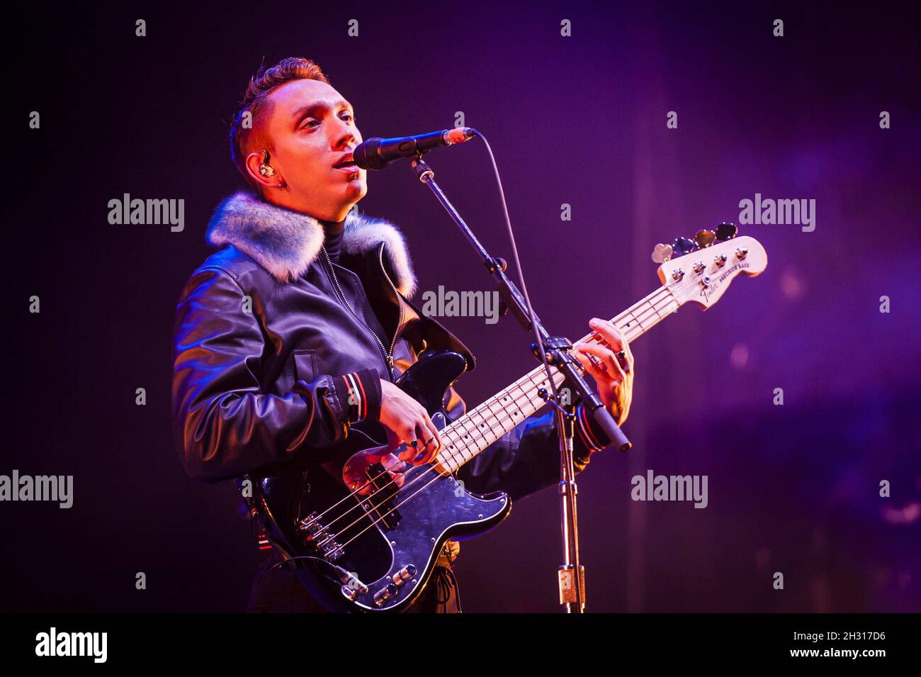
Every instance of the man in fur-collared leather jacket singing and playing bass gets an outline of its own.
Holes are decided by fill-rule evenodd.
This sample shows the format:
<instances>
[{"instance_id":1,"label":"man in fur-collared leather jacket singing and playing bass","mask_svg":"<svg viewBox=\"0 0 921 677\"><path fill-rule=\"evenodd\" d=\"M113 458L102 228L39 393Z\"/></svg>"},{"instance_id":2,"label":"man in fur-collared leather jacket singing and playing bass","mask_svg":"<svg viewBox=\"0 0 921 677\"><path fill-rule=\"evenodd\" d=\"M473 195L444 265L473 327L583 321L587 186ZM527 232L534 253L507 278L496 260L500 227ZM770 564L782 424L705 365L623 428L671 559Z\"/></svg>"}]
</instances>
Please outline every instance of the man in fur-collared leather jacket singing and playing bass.
<instances>
[{"instance_id":1,"label":"man in fur-collared leather jacket singing and playing bass","mask_svg":"<svg viewBox=\"0 0 921 677\"><path fill-rule=\"evenodd\" d=\"M394 479L441 445L426 409L393 381L429 350L470 351L410 300L416 280L400 231L353 209L367 193L352 160L361 142L351 104L305 59L262 68L234 117L231 157L254 193L216 210L208 242L222 246L192 274L177 306L173 414L177 448L196 480L218 482L287 461L324 461L350 426L376 421L407 446L381 461ZM633 356L608 321L604 344L574 355L618 423L630 408ZM620 353L620 355L615 355ZM593 356L589 358L589 356ZM597 366L596 366L597 365ZM451 389L456 418L465 404ZM607 446L578 408L575 464ZM553 413L522 421L457 476L473 493L512 499L559 482ZM396 449L394 449L396 450ZM289 466L288 466L289 467ZM461 610L449 542L414 612ZM321 612L270 557L251 611Z\"/></svg>"}]
</instances>

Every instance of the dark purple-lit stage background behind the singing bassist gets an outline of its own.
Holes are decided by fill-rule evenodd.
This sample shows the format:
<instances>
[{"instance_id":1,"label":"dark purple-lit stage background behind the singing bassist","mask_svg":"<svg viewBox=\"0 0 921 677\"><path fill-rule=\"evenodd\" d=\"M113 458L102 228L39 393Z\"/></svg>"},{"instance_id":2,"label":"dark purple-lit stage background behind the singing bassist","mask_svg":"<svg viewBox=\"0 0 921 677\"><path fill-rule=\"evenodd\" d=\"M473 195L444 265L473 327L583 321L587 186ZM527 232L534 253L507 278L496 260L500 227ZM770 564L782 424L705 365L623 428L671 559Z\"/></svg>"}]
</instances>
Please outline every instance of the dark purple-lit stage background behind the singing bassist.
<instances>
[{"instance_id":1,"label":"dark purple-lit stage background behind the singing bassist","mask_svg":"<svg viewBox=\"0 0 921 677\"><path fill-rule=\"evenodd\" d=\"M531 298L571 338L658 285L657 242L738 222L755 193L814 199L813 232L740 227L769 252L762 276L635 343L625 426L635 449L600 453L578 477L589 610L921 609L921 132L909 14L801 3L16 11L4 107L12 434L0 473L72 474L75 503L0 505L0 609L245 608L259 554L232 484L195 484L181 468L169 352L181 286L210 251L208 218L243 185L228 157L230 116L263 60L286 56L321 64L366 137L450 127L457 111L488 134ZM41 129L29 129L30 111ZM509 256L484 148L430 159L484 244ZM405 232L420 294L492 288L408 164L368 182L360 207ZM184 199L184 230L110 225L108 201L122 193ZM510 318L444 321L478 357L460 384L468 403L533 366ZM134 403L138 387L146 406ZM630 478L647 469L706 474L708 507L632 501ZM462 544L467 611L558 610L557 514L547 490Z\"/></svg>"}]
</instances>

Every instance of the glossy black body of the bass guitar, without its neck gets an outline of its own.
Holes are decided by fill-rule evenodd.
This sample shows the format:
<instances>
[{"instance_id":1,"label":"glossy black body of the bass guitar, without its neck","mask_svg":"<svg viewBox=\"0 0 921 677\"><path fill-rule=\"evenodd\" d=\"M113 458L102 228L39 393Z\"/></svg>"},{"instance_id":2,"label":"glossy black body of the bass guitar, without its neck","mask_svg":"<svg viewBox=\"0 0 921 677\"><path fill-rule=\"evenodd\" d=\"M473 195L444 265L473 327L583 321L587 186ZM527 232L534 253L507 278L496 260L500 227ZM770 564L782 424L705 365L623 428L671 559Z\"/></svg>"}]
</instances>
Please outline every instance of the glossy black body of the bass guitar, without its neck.
<instances>
[{"instance_id":1,"label":"glossy black body of the bass guitar, without its neck","mask_svg":"<svg viewBox=\"0 0 921 677\"><path fill-rule=\"evenodd\" d=\"M465 368L458 353L430 354L408 368L397 386L422 403L441 429L449 423L445 393ZM489 531L511 510L506 494L473 495L433 463L412 467L401 487L372 465L367 480L379 480L370 496L354 496L342 479L343 465L357 451L375 448L392 450L383 427L353 426L332 461L251 477L266 533L294 558L283 566L295 566L297 578L330 611L405 611L425 588L447 541Z\"/></svg>"}]
</instances>

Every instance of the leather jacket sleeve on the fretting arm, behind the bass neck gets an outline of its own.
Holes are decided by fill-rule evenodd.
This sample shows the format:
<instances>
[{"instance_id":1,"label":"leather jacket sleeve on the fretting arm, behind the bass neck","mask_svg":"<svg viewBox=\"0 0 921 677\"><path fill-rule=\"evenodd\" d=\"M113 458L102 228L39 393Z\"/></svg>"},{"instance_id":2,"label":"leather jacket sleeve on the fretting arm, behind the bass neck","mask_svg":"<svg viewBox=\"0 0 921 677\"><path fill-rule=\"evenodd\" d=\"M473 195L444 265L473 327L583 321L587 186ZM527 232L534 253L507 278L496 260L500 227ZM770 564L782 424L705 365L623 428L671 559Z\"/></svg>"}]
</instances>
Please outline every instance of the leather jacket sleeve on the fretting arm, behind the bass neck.
<instances>
[{"instance_id":1,"label":"leather jacket sleeve on the fretting arm, behind the bass neck","mask_svg":"<svg viewBox=\"0 0 921 677\"><path fill-rule=\"evenodd\" d=\"M452 400L460 400L455 392L451 395ZM462 400L460 404L466 411ZM458 409L453 409L452 415L456 411ZM573 466L576 473L581 473L589 464L591 454L608 447L610 440L586 416L582 403L578 403L576 414ZM559 483L560 449L554 410L521 421L463 465L457 478L473 494L504 491L513 501Z\"/></svg>"}]
</instances>

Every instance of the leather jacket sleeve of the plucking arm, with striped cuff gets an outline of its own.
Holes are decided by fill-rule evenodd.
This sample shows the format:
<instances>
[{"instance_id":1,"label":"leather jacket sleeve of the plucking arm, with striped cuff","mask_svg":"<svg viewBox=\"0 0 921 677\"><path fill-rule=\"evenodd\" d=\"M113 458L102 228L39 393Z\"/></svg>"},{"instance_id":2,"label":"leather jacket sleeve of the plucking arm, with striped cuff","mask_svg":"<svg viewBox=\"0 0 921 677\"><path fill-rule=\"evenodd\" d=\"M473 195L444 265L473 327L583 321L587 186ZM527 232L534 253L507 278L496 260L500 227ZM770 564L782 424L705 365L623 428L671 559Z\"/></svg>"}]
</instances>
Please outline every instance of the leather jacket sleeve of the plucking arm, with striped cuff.
<instances>
[{"instance_id":1,"label":"leather jacket sleeve of the plucking arm, with striped cuff","mask_svg":"<svg viewBox=\"0 0 921 677\"><path fill-rule=\"evenodd\" d=\"M176 309L173 432L186 472L201 482L330 447L344 440L350 424L380 414L373 369L297 380L280 395L263 392L262 327L243 301L230 274L202 268Z\"/></svg>"}]
</instances>

